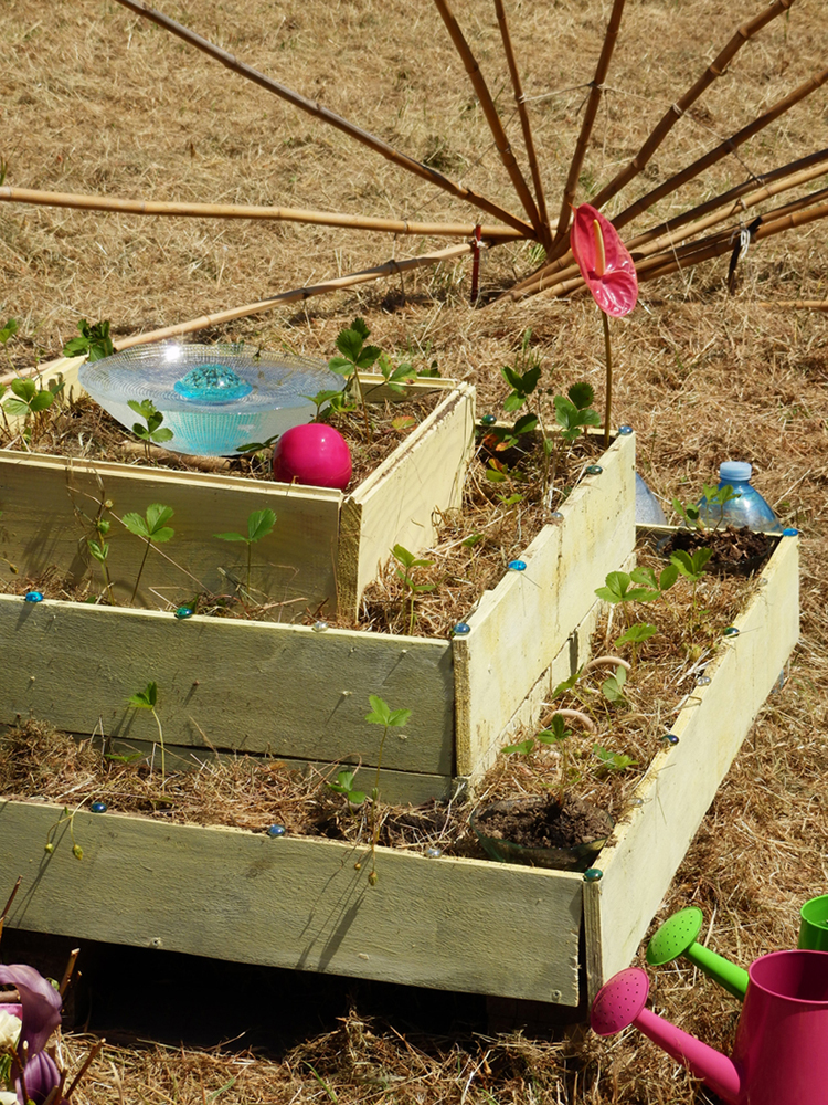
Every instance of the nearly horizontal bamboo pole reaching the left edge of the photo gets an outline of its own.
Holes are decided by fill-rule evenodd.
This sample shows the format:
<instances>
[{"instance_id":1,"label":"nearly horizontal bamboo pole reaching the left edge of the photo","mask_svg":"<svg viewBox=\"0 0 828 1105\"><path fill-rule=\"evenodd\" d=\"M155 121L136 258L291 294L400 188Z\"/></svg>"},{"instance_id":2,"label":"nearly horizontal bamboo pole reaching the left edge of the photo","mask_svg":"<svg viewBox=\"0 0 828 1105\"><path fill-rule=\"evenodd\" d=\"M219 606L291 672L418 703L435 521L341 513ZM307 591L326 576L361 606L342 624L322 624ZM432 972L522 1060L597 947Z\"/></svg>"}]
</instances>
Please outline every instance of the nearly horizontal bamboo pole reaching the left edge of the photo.
<instances>
[{"instance_id":1,"label":"nearly horizontal bamboo pole reaching the left edge of the photo","mask_svg":"<svg viewBox=\"0 0 828 1105\"><path fill-rule=\"evenodd\" d=\"M113 196L84 196L75 192L44 192L33 188L0 186L0 202L36 203L44 207L75 208L83 211L119 211L123 214L173 215L192 219L272 219L304 222L320 227L342 227L374 230L389 234L417 234L424 238L471 238L473 223L410 222L407 219L375 219L368 215L341 214L329 211L306 211L301 208L253 207L237 203L178 203L162 200L126 200ZM511 227L482 227L481 236L490 241L523 239Z\"/></svg>"}]
</instances>

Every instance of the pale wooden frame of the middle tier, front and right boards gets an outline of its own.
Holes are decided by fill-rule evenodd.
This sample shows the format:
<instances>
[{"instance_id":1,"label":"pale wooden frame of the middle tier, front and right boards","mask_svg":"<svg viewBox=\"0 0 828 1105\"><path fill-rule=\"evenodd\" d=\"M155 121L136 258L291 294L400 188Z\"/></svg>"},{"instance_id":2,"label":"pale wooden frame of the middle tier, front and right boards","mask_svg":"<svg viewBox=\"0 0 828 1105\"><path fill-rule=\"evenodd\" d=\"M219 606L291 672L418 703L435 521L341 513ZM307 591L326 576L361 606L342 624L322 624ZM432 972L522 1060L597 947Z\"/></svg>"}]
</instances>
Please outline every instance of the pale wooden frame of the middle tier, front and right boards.
<instances>
[{"instance_id":1,"label":"pale wooden frame of the middle tier, front and right boards","mask_svg":"<svg viewBox=\"0 0 828 1105\"><path fill-rule=\"evenodd\" d=\"M602 471L581 481L562 517L526 550L526 570L507 571L484 592L466 618L468 634L453 640L201 615L180 621L0 596L0 641L14 657L0 686L0 723L31 714L78 735L151 741L155 722L126 701L153 681L169 746L370 767L376 741L367 740L364 715L368 696L379 694L413 711L407 739L385 748L384 797L448 797L455 780L491 765L506 733L537 716L550 678L565 678L583 662L595 587L633 551L634 436L619 436L599 460ZM188 483L170 484L182 503Z\"/></svg>"}]
</instances>

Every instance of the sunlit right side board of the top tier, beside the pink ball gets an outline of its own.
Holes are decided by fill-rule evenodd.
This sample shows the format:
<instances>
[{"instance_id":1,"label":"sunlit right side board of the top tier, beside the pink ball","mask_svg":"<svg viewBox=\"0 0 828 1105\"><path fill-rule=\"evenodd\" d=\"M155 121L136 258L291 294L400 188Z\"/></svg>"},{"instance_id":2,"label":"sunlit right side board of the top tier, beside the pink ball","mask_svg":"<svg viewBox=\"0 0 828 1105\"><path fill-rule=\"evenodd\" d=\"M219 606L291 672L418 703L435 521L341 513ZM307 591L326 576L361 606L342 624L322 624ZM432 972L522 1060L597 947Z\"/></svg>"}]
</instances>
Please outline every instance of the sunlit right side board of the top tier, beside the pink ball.
<instances>
[{"instance_id":1,"label":"sunlit right side board of the top tier, beside the pink ball","mask_svg":"<svg viewBox=\"0 0 828 1105\"><path fill-rule=\"evenodd\" d=\"M392 454L348 497L341 524L342 609L355 612L394 545L420 552L432 544L438 512L460 505L474 438L475 390L457 383L406 439L404 463L402 453Z\"/></svg>"}]
</instances>

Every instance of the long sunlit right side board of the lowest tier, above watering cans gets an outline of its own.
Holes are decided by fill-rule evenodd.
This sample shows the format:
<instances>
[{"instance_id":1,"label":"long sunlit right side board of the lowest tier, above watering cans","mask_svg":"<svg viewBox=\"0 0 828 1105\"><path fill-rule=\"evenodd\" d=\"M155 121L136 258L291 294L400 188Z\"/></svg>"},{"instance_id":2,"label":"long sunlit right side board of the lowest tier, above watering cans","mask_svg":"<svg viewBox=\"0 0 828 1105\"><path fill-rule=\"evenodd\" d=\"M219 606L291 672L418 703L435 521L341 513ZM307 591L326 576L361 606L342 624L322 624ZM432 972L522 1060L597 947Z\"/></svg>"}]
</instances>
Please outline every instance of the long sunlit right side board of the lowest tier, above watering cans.
<instances>
[{"instance_id":1,"label":"long sunlit right side board of the lowest tier, above watering cans","mask_svg":"<svg viewBox=\"0 0 828 1105\"><path fill-rule=\"evenodd\" d=\"M602 851L584 899L588 989L631 961L701 819L799 635L798 538L783 537L698 687L670 726L679 737L651 762Z\"/></svg>"}]
</instances>

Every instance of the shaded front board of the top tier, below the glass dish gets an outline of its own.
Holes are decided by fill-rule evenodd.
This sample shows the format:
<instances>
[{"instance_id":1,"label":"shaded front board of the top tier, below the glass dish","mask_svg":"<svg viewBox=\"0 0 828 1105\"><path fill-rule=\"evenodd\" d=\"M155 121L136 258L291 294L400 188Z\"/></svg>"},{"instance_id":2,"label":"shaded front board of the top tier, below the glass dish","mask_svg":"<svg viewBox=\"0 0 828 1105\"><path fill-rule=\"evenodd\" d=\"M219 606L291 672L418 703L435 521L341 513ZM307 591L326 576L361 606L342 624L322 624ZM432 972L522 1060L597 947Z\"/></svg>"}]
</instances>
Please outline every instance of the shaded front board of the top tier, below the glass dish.
<instances>
[{"instance_id":1,"label":"shaded front board of the top tier, below the glass dish","mask_svg":"<svg viewBox=\"0 0 828 1105\"><path fill-rule=\"evenodd\" d=\"M98 483L98 481L100 481ZM102 492L103 487L103 492ZM0 450L0 551L28 575L51 566L83 579L89 571L86 538L96 501L114 503L114 514L144 514L150 503L173 508L173 538L150 551L138 600L160 608L191 600L200 588L232 592L224 571L246 579L246 546L223 541L220 533L247 532L247 516L269 507L276 514L270 535L253 548L251 585L261 601L287 602L282 617L290 620L326 599L336 604L335 567L342 495L325 488L293 488L241 476L181 473L107 461L62 457ZM109 571L115 596L128 602L145 543L113 520L108 536ZM162 555L164 554L164 555ZM171 558L167 559L167 557ZM174 562L172 562L174 561ZM94 564L94 561L92 561ZM99 566L95 579L103 590ZM193 578L194 577L194 578ZM158 593L153 593L157 591ZM279 611L273 612L273 617Z\"/></svg>"}]
</instances>

